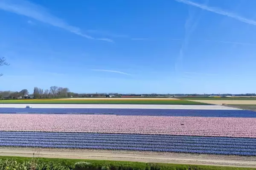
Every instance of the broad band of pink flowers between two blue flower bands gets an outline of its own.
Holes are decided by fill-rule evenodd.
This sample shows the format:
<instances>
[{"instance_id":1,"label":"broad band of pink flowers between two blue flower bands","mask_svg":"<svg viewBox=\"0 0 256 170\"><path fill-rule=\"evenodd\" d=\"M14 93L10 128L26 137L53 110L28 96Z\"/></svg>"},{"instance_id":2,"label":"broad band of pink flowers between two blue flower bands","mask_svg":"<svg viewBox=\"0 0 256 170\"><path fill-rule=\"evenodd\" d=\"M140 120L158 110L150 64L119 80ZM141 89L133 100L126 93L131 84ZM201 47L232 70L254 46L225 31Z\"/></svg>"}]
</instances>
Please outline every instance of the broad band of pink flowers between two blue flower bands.
<instances>
[{"instance_id":1,"label":"broad band of pink flowers between two blue flower bands","mask_svg":"<svg viewBox=\"0 0 256 170\"><path fill-rule=\"evenodd\" d=\"M1 114L0 131L132 133L256 138L256 118Z\"/></svg>"}]
</instances>

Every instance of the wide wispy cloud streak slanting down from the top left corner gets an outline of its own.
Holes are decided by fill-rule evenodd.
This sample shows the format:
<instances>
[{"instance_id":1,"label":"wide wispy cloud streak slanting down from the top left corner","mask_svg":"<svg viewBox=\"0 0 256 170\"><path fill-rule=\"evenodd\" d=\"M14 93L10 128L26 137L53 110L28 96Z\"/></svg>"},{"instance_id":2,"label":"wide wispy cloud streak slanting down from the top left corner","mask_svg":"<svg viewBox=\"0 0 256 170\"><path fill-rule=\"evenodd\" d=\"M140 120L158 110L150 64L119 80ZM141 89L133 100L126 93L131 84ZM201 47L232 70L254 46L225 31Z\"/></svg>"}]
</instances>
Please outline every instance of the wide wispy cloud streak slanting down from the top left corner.
<instances>
[{"instance_id":1,"label":"wide wispy cloud streak slanting down from the top left corner","mask_svg":"<svg viewBox=\"0 0 256 170\"><path fill-rule=\"evenodd\" d=\"M61 20L58 17L50 14L46 8L30 3L25 0L1 0L0 1L0 9L4 11L9 11L18 15L23 15L26 17L33 18L42 23L47 23L49 25L62 28L66 31L70 31L73 34L77 34L81 37L85 37L90 40L100 40L94 37L91 37L87 34L83 34L81 29L75 26L70 26L64 20Z\"/></svg>"}]
</instances>

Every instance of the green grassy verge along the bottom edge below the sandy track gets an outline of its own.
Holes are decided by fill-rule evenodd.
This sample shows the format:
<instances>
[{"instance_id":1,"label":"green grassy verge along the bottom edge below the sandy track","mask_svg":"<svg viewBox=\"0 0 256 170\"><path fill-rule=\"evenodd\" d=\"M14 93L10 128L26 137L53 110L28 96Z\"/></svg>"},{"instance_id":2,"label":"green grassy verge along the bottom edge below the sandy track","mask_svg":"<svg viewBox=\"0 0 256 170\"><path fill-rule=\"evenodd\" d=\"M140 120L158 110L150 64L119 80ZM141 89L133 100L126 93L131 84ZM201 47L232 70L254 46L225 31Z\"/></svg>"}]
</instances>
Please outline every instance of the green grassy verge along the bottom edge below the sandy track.
<instances>
[{"instance_id":1,"label":"green grassy verge along the bottom edge below the sandy track","mask_svg":"<svg viewBox=\"0 0 256 170\"><path fill-rule=\"evenodd\" d=\"M0 156L0 159L2 161L6 161L6 160L16 161L17 164L33 160L27 157L11 157L11 156ZM55 167L57 167L58 165L59 167L62 167L60 169L63 169L63 170L66 170L66 169L70 169L70 170L71 169L73 170L255 170L256 169L256 168L247 168L247 167L144 163L144 162L86 160L86 159L37 158L36 161L34 159L33 162L35 162L38 166L41 164L45 164L45 165L55 165ZM6 168L2 168L2 169L6 169ZM16 168L16 170L17 169L19 168ZM50 169L53 169L53 168L50 168Z\"/></svg>"}]
</instances>

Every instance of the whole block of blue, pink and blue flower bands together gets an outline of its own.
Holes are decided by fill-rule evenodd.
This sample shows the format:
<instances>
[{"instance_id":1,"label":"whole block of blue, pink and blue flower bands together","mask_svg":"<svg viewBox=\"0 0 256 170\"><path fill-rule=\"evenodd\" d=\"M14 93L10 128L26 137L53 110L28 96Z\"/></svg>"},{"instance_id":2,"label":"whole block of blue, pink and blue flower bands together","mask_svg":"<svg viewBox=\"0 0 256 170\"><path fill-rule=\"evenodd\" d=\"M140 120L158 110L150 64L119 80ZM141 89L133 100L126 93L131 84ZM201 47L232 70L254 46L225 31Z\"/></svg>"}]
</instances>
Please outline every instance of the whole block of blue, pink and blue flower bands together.
<instances>
[{"instance_id":1,"label":"whole block of blue, pink and blue flower bands together","mask_svg":"<svg viewBox=\"0 0 256 170\"><path fill-rule=\"evenodd\" d=\"M0 108L0 147L256 156L253 111L32 108L18 113L23 110Z\"/></svg>"}]
</instances>

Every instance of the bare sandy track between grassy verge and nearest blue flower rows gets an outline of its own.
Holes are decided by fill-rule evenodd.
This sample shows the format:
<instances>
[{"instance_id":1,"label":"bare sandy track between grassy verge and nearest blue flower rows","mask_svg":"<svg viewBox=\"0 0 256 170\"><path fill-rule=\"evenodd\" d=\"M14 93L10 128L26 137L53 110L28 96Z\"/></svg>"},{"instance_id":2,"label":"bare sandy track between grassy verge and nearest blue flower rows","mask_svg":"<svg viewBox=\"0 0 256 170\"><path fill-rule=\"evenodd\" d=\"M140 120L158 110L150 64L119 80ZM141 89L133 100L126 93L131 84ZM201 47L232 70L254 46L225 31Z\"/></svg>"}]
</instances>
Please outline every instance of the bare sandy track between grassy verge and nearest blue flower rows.
<instances>
[{"instance_id":1,"label":"bare sandy track between grassy verge and nearest blue flower rows","mask_svg":"<svg viewBox=\"0 0 256 170\"><path fill-rule=\"evenodd\" d=\"M256 167L256 157L221 156L205 154L140 152L124 150L81 150L81 149L49 149L0 147L1 156L39 157L65 159L100 159L116 161L162 162L176 164L208 164L224 166Z\"/></svg>"}]
</instances>

